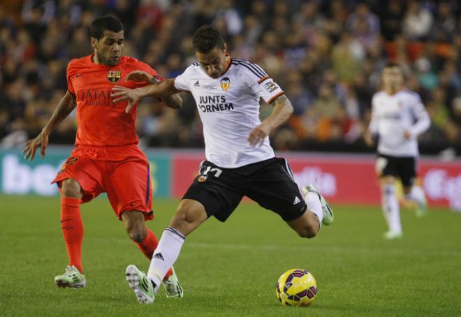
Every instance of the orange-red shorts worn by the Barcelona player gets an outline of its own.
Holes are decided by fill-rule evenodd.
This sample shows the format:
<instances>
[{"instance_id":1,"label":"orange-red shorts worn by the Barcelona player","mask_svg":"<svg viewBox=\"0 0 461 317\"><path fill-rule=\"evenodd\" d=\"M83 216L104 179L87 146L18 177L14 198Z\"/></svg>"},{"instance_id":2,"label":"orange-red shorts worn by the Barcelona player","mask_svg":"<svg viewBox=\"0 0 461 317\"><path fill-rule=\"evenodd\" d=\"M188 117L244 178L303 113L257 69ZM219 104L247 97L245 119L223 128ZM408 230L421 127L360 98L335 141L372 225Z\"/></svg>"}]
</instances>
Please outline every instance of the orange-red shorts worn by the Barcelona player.
<instances>
[{"instance_id":1,"label":"orange-red shorts worn by the Barcelona player","mask_svg":"<svg viewBox=\"0 0 461 317\"><path fill-rule=\"evenodd\" d=\"M61 187L64 179L75 179L82 187L82 202L107 193L110 205L121 220L122 212L143 212L146 220L154 219L149 163L144 154L123 161L94 160L73 151L53 183Z\"/></svg>"}]
</instances>

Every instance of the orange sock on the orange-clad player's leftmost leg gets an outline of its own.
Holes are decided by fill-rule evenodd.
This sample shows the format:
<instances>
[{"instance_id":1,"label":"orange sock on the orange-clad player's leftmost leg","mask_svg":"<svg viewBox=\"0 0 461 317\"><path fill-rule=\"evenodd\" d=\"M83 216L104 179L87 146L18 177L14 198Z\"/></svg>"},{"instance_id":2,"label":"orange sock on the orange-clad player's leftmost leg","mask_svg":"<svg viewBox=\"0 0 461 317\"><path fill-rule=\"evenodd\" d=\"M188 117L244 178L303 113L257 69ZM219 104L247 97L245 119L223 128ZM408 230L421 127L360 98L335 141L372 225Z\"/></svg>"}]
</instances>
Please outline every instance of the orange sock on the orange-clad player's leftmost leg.
<instances>
[{"instance_id":1,"label":"orange sock on the orange-clad player's leftmost leg","mask_svg":"<svg viewBox=\"0 0 461 317\"><path fill-rule=\"evenodd\" d=\"M80 216L80 199L61 197L61 229L66 242L69 265L82 273L83 223Z\"/></svg>"}]
</instances>

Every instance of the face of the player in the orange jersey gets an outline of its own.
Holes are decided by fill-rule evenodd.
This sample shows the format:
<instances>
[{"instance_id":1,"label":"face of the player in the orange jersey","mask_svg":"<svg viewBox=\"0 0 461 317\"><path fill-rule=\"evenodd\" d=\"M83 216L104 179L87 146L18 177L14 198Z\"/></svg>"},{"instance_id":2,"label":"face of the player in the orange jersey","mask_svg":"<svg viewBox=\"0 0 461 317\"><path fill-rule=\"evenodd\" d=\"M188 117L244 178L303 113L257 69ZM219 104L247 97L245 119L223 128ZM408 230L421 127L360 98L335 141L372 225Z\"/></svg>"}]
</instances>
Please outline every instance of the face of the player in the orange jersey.
<instances>
[{"instance_id":1,"label":"face of the player in the orange jersey","mask_svg":"<svg viewBox=\"0 0 461 317\"><path fill-rule=\"evenodd\" d=\"M104 31L104 36L99 40L92 38L92 45L94 47L94 54L98 57L99 64L115 66L122 57L124 32Z\"/></svg>"}]
</instances>

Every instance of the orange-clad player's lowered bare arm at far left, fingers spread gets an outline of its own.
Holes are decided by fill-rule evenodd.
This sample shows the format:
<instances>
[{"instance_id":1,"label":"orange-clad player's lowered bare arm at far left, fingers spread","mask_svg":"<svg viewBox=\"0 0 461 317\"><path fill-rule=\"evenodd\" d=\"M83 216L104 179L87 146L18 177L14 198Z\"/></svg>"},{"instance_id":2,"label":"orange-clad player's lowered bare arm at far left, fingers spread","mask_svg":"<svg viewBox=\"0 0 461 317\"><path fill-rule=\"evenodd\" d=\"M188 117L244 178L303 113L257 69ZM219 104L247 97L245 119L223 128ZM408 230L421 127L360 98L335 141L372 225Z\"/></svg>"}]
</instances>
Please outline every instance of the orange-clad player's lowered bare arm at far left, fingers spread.
<instances>
[{"instance_id":1,"label":"orange-clad player's lowered bare arm at far left, fingers spread","mask_svg":"<svg viewBox=\"0 0 461 317\"><path fill-rule=\"evenodd\" d=\"M36 136L36 138L31 139L26 142L22 154L24 154L25 159L32 161L34 159L37 147L41 147L41 156L45 156L45 150L48 146L48 137L53 131L54 127L59 124L64 118L66 118L72 110L75 109L75 96L73 96L69 91L66 92L64 97L59 101L56 109L54 110L50 120L43 127L41 133Z\"/></svg>"}]
</instances>

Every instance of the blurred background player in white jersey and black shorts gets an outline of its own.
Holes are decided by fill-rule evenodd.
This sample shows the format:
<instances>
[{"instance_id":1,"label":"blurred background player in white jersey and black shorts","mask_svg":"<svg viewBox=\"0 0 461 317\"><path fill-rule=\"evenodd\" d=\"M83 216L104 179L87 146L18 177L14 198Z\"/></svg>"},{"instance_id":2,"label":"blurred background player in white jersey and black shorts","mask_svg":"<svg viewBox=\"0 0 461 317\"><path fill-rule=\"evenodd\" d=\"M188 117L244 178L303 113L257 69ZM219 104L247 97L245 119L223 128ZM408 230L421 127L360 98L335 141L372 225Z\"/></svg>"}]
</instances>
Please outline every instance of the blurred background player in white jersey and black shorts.
<instances>
[{"instance_id":1,"label":"blurred background player in white jersey and black shorts","mask_svg":"<svg viewBox=\"0 0 461 317\"><path fill-rule=\"evenodd\" d=\"M416 215L425 212L426 199L423 189L414 184L418 135L430 127L430 118L414 91L404 89L402 68L389 63L383 69L383 91L372 98L372 119L365 133L367 145L378 139L376 173L380 177L381 206L388 223L386 239L402 237L400 207L395 189L396 178L402 181L404 195L418 204Z\"/></svg>"}]
</instances>

